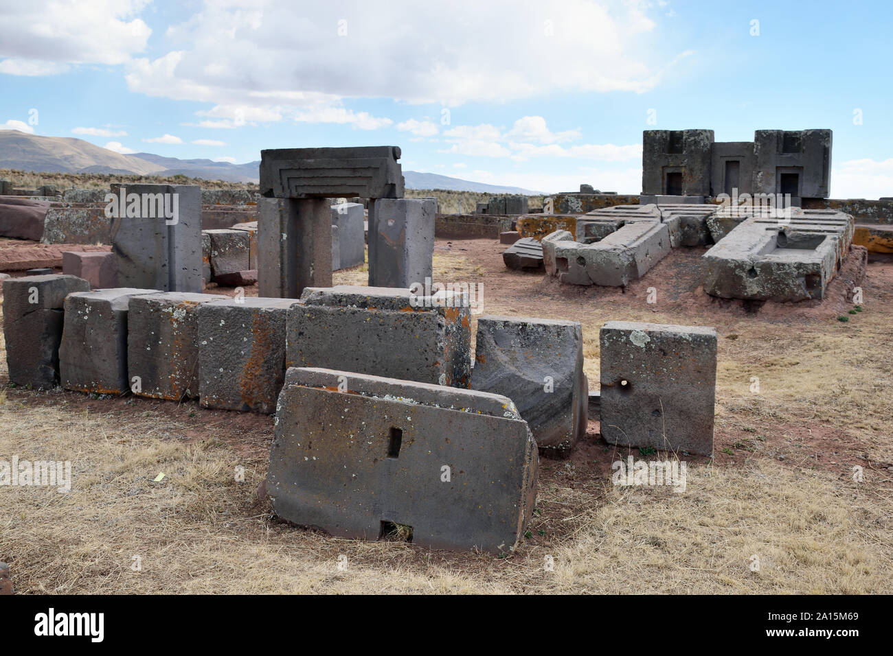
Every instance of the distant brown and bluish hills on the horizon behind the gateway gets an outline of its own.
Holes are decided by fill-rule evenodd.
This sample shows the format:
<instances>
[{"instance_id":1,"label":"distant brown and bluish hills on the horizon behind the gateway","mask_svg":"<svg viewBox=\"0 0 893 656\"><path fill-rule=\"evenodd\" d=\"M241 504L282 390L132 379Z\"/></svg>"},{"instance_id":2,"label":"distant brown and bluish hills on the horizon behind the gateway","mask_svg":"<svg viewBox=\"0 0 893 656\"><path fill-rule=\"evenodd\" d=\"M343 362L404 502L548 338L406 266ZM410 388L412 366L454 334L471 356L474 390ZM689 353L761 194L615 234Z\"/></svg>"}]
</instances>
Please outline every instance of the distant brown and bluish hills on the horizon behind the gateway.
<instances>
[{"instance_id":1,"label":"distant brown and bluish hills on the horizon behind the gateway","mask_svg":"<svg viewBox=\"0 0 893 656\"><path fill-rule=\"evenodd\" d=\"M224 182L260 182L260 161L246 164L181 160L152 153L122 155L102 146L74 137L40 137L19 130L0 130L0 169L38 173L110 173L113 175L157 175L222 180ZM500 187L414 170L403 172L407 189L446 189L483 194L537 195L540 192L521 187Z\"/></svg>"}]
</instances>

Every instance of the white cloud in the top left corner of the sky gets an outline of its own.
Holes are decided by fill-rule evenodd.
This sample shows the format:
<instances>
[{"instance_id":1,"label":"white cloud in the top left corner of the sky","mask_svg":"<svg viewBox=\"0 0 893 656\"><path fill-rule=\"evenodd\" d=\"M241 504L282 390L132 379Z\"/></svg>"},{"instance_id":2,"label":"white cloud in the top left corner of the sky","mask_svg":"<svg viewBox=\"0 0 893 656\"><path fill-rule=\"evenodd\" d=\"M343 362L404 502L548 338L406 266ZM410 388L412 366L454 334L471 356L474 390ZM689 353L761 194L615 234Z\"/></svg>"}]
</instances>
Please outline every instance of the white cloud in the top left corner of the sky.
<instances>
[{"instance_id":1,"label":"white cloud in the top left corner of the sky","mask_svg":"<svg viewBox=\"0 0 893 656\"><path fill-rule=\"evenodd\" d=\"M129 62L152 33L137 18L145 5L145 0L29 0L0 10L0 73L54 75L70 64Z\"/></svg>"}]
</instances>

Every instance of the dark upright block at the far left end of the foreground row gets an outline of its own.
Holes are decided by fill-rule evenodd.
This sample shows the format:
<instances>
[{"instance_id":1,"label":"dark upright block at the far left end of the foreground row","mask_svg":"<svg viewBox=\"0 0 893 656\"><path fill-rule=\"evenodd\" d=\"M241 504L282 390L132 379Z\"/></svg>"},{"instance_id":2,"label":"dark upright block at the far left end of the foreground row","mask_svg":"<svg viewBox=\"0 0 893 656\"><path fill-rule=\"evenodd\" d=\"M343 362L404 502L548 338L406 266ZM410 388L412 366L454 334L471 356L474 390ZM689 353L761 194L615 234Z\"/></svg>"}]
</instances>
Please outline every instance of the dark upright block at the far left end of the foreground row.
<instances>
[{"instance_id":1,"label":"dark upright block at the far left end of the foreground row","mask_svg":"<svg viewBox=\"0 0 893 656\"><path fill-rule=\"evenodd\" d=\"M9 379L49 388L59 380L65 296L88 292L74 276L28 276L3 281L4 337Z\"/></svg>"}]
</instances>

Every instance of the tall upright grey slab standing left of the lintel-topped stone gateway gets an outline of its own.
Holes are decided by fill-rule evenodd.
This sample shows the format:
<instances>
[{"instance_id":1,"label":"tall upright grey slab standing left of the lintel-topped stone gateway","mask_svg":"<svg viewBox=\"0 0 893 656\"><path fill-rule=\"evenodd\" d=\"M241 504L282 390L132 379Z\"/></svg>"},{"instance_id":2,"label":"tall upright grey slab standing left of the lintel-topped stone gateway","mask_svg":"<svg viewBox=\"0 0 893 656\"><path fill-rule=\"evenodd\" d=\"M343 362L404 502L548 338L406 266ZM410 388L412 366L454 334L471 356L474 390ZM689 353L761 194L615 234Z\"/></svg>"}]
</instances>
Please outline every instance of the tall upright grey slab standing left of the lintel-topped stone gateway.
<instances>
[{"instance_id":1,"label":"tall upright grey slab standing left of the lintel-topped stone gateway","mask_svg":"<svg viewBox=\"0 0 893 656\"><path fill-rule=\"evenodd\" d=\"M125 206L113 219L112 251L118 257L118 280L123 286L174 292L202 290L202 237L200 189L194 185L112 185L113 195L124 192L147 201L138 216ZM177 216L165 219L157 199L167 199ZM170 225L169 225L170 221ZM174 222L176 221L176 222Z\"/></svg>"}]
</instances>

